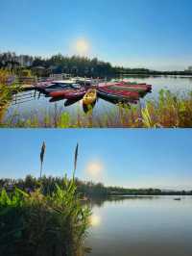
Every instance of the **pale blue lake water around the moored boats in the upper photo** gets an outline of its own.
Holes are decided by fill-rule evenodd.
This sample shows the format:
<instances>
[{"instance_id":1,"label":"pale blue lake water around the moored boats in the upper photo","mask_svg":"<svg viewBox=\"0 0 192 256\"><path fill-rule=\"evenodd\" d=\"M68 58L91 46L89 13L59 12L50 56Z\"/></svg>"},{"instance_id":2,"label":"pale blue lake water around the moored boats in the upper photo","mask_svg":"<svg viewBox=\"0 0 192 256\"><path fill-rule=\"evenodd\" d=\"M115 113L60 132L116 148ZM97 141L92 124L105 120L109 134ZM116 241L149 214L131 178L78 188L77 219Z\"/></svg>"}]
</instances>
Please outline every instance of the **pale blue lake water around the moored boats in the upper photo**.
<instances>
[{"instance_id":1,"label":"pale blue lake water around the moored boats in the upper photo","mask_svg":"<svg viewBox=\"0 0 192 256\"><path fill-rule=\"evenodd\" d=\"M138 83L153 85L152 93L148 93L143 99L141 99L141 104L144 104L146 99L156 98L158 91L161 89L168 89L179 93L192 90L192 77L129 77L128 79L131 82L136 81ZM50 98L45 97L44 94L35 92L35 90L25 91L19 93L16 96L16 99L12 101L12 106L8 109L5 116L7 118L12 116L13 113L18 113L23 117L23 120L25 120L29 115L36 114L40 117L43 116L44 113L50 113L52 115L61 111L71 114L74 118L76 118L77 115L84 115L82 100L68 107L64 106L64 102L65 100L50 102ZM117 107L114 104L99 98L94 106L93 115L105 115L111 109L117 111Z\"/></svg>"}]
</instances>

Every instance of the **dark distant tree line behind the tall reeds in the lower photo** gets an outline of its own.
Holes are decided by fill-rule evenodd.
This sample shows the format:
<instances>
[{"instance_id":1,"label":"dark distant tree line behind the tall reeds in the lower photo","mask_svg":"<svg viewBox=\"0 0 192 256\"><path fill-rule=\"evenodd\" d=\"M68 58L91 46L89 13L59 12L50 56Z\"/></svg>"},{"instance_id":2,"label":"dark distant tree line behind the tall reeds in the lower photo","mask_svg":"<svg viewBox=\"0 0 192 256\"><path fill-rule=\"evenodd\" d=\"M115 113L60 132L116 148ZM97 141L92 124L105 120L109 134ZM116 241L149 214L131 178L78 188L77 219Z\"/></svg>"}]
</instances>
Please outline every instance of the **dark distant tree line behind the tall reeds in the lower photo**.
<instances>
[{"instance_id":1,"label":"dark distant tree line behind the tall reeds in the lower photo","mask_svg":"<svg viewBox=\"0 0 192 256\"><path fill-rule=\"evenodd\" d=\"M106 187L102 183L82 181L78 178L75 179L75 183L77 192L81 194L82 198L108 197L110 195L192 195L192 191ZM27 175L24 179L0 179L0 191L6 189L7 192L12 192L14 187L17 187L25 192L35 192L36 189L41 188L44 194L52 194L56 190L56 184L60 187L64 186L64 178L52 176L36 178L32 175Z\"/></svg>"}]
</instances>

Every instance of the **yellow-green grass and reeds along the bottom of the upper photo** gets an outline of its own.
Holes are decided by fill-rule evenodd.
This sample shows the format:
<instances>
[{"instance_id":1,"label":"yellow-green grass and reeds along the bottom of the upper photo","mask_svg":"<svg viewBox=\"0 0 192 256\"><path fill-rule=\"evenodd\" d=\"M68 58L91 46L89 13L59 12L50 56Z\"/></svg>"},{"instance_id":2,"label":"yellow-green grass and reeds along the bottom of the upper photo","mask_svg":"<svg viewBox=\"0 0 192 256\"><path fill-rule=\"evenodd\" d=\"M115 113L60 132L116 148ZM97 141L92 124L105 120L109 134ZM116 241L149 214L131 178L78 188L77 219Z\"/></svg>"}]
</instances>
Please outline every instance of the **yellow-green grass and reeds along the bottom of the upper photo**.
<instances>
[{"instance_id":1,"label":"yellow-green grass and reeds along the bottom of the upper photo","mask_svg":"<svg viewBox=\"0 0 192 256\"><path fill-rule=\"evenodd\" d=\"M69 115L57 109L40 114L31 113L23 118L14 113L2 120L1 127L47 127L47 128L177 128L192 127L192 92L175 94L160 90L156 100L148 100L145 106L125 106L118 104L117 111L110 110L105 115L95 116L92 110L86 115Z\"/></svg>"}]
</instances>

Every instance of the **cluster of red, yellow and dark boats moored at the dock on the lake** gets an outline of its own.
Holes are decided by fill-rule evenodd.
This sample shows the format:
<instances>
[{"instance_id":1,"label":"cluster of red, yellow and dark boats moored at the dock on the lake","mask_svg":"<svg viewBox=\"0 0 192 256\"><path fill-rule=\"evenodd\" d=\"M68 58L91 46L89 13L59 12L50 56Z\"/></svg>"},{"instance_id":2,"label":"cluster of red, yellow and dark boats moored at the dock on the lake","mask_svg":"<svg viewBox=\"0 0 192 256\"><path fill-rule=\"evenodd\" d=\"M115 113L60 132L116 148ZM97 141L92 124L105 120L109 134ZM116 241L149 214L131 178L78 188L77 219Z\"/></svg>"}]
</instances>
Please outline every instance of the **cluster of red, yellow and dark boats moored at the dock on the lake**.
<instances>
[{"instance_id":1,"label":"cluster of red, yellow and dark boats moored at the dock on the lake","mask_svg":"<svg viewBox=\"0 0 192 256\"><path fill-rule=\"evenodd\" d=\"M152 90L151 85L131 82L78 83L74 80L46 81L36 85L36 89L52 98L78 99L83 98L84 104L92 104L97 95L111 100L137 100Z\"/></svg>"}]
</instances>

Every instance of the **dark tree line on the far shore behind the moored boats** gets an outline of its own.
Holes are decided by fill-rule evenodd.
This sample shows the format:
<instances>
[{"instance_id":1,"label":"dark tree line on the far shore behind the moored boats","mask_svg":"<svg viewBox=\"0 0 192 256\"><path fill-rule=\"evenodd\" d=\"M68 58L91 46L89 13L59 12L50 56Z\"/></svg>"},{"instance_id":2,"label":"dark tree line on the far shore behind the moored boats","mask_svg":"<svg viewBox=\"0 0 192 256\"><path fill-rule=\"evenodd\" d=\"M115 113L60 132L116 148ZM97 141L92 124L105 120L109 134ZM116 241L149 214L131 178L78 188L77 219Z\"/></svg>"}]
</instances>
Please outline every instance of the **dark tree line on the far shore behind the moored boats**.
<instances>
[{"instance_id":1,"label":"dark tree line on the far shore behind the moored boats","mask_svg":"<svg viewBox=\"0 0 192 256\"><path fill-rule=\"evenodd\" d=\"M33 70L39 76L48 76L52 73L68 73L74 76L87 77L111 77L129 74L139 76L149 75L191 75L190 70L185 71L157 71L148 68L130 68L124 66L113 66L108 62L97 58L87 58L80 56L53 55L50 58L40 56L19 55L15 53L0 53L0 68L10 68L17 71L20 68Z\"/></svg>"}]
</instances>

